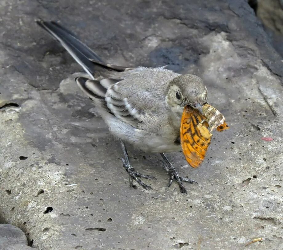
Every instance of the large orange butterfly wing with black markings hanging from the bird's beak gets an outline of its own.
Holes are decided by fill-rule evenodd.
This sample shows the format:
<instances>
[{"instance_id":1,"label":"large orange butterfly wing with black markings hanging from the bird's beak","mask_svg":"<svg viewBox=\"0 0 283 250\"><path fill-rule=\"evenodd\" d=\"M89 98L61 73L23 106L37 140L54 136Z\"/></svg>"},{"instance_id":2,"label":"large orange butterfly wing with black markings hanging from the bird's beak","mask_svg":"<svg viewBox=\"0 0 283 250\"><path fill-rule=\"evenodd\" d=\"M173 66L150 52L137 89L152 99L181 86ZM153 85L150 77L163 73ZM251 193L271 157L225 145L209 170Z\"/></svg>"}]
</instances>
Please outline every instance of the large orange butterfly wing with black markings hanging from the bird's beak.
<instances>
[{"instance_id":1,"label":"large orange butterfly wing with black markings hanging from the bird's beak","mask_svg":"<svg viewBox=\"0 0 283 250\"><path fill-rule=\"evenodd\" d=\"M199 111L189 105L185 106L180 128L180 141L183 154L190 166L196 168L205 158L206 150L210 144L211 136L207 129L208 123Z\"/></svg>"}]
</instances>

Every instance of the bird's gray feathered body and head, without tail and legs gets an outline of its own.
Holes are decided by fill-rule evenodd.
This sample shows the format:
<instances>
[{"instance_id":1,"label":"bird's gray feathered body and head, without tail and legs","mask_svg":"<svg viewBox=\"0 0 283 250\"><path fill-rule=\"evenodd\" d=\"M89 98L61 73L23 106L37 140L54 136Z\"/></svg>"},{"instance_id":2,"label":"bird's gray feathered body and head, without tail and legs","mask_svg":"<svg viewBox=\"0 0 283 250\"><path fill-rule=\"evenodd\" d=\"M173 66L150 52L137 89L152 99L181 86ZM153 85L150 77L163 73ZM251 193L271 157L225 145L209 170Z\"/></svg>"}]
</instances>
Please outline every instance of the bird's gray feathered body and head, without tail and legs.
<instances>
[{"instance_id":1,"label":"bird's gray feathered body and head, without tail and legs","mask_svg":"<svg viewBox=\"0 0 283 250\"><path fill-rule=\"evenodd\" d=\"M206 88L201 79L164 68L144 67L112 72L109 77L119 80L110 84L107 90L105 88L105 96L100 96L104 97L103 100L96 96L102 85L95 84L93 94L84 91L96 104L109 130L143 151L164 153L180 150L176 139L180 134L183 107L190 99L194 103L202 100L200 95L205 97ZM77 79L80 86L87 86L90 81ZM190 90L185 88L188 85ZM183 104L176 98L177 89L184 96Z\"/></svg>"}]
</instances>

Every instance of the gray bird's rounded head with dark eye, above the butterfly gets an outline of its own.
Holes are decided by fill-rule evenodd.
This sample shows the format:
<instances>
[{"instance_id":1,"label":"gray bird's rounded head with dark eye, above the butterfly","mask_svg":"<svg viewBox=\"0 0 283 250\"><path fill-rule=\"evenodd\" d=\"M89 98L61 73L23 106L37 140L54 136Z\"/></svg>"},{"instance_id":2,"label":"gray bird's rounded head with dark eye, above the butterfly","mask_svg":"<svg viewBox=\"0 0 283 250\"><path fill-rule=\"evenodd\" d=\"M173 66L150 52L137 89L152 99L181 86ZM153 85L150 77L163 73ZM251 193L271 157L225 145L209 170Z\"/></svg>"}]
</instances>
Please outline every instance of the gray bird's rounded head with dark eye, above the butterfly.
<instances>
[{"instance_id":1,"label":"gray bird's rounded head with dark eye, above the butterfly","mask_svg":"<svg viewBox=\"0 0 283 250\"><path fill-rule=\"evenodd\" d=\"M207 89L201 78L195 75L181 75L170 82L166 104L173 113L181 117L187 104L202 113L206 97Z\"/></svg>"}]
</instances>

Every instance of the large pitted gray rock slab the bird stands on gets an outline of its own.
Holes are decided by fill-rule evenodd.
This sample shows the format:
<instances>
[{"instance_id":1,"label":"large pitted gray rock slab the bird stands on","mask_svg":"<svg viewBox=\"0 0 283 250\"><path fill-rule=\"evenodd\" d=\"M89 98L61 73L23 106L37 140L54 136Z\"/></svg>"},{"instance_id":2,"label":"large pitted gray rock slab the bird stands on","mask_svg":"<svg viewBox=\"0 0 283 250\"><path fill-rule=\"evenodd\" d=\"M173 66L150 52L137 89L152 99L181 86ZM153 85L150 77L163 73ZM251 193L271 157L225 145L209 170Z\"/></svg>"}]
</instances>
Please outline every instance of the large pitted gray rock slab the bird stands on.
<instances>
[{"instance_id":1,"label":"large pitted gray rock slab the bird stands on","mask_svg":"<svg viewBox=\"0 0 283 250\"><path fill-rule=\"evenodd\" d=\"M259 237L245 249L283 248L283 63L244 0L1 0L0 17L2 223L38 249L244 249ZM203 78L231 129L214 133L198 169L169 154L199 185L165 189L160 157L129 146L158 178L129 187L118 142L70 76L80 67L38 17L110 63Z\"/></svg>"}]
</instances>

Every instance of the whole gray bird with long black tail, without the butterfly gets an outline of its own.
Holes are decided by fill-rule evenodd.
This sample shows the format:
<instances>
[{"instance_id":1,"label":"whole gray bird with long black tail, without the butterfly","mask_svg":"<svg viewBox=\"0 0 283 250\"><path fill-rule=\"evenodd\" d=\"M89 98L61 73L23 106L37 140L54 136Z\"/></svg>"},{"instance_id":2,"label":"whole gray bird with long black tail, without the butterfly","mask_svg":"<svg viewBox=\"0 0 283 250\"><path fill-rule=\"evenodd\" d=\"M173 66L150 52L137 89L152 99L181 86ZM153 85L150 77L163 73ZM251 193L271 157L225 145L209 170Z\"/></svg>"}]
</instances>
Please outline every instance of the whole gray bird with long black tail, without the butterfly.
<instances>
[{"instance_id":1,"label":"whole gray bird with long black tail, without the butterfly","mask_svg":"<svg viewBox=\"0 0 283 250\"><path fill-rule=\"evenodd\" d=\"M170 174L169 187L175 178L181 193L183 182L192 179L178 174L164 153L181 150L180 126L184 107L189 104L201 111L207 89L198 76L181 75L165 67L129 68L104 63L94 51L57 22L37 21L38 25L56 38L70 55L90 75L78 77L78 86L94 102L110 132L120 140L123 166L145 189L150 186L140 178L155 178L138 173L130 163L124 142L145 152L160 153L164 168Z\"/></svg>"}]
</instances>

